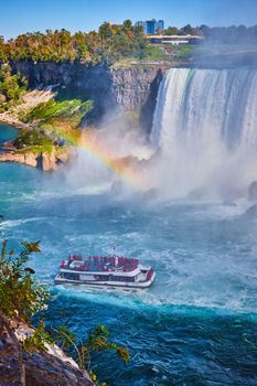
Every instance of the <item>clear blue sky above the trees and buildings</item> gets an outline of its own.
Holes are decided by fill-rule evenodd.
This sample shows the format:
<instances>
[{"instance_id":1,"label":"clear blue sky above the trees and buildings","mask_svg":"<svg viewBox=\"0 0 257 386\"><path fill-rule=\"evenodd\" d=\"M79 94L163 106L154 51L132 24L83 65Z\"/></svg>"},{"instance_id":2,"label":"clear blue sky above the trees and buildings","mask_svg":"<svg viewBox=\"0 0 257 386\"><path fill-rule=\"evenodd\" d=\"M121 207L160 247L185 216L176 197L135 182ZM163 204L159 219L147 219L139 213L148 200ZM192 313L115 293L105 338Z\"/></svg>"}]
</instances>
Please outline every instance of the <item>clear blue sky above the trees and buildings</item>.
<instances>
[{"instance_id":1,"label":"clear blue sky above the trees and buildings","mask_svg":"<svg viewBox=\"0 0 257 386\"><path fill-rule=\"evenodd\" d=\"M1 0L0 35L62 29L89 31L104 21L163 19L165 25L257 24L257 0Z\"/></svg>"}]
</instances>

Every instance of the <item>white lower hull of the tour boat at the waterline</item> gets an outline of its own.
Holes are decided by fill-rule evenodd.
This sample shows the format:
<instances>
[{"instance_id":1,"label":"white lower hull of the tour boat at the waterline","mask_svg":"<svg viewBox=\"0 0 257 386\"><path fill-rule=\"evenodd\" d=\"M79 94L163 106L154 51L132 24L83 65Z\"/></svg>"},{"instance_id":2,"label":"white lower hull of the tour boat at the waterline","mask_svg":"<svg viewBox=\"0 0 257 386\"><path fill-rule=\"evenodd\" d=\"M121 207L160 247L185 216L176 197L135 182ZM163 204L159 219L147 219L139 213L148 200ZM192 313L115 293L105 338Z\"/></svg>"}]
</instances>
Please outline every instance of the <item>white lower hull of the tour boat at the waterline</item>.
<instances>
[{"instance_id":1,"label":"white lower hull of the tour boat at the waterline","mask_svg":"<svg viewBox=\"0 0 257 386\"><path fill-rule=\"evenodd\" d=\"M74 285L74 286L87 286L87 287L110 287L110 288L131 288L131 289L146 289L149 288L156 278L156 272L152 274L151 279L142 282L120 282L120 281L97 281L97 280L71 280L62 278L60 275L55 277L55 285Z\"/></svg>"}]
</instances>

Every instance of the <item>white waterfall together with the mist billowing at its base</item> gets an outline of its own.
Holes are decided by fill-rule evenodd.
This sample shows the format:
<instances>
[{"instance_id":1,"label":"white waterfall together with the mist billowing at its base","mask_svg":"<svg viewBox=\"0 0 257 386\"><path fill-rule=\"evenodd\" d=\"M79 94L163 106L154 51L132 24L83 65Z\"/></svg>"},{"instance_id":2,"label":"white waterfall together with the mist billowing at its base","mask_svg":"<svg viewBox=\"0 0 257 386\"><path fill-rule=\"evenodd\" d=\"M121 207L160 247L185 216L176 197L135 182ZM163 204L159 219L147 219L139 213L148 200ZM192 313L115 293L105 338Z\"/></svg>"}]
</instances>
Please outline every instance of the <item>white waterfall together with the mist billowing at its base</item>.
<instances>
[{"instance_id":1,"label":"white waterfall together with the mist billowing at its base","mask_svg":"<svg viewBox=\"0 0 257 386\"><path fill-rule=\"evenodd\" d=\"M257 180L256 90L253 67L171 68L150 135L129 112L107 115L98 129L82 130L65 181L114 200L247 197Z\"/></svg>"}]
</instances>

